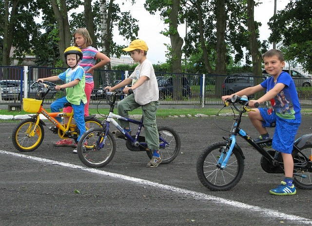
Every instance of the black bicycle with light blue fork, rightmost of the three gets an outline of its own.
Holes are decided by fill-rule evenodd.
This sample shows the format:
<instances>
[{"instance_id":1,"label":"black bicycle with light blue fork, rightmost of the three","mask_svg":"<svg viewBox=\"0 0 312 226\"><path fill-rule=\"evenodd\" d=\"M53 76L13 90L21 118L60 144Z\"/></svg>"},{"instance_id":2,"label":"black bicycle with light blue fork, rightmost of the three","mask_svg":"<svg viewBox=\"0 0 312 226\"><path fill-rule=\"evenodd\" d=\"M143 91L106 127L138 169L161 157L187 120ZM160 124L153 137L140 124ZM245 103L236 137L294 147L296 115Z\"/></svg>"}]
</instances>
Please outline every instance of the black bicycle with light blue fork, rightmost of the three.
<instances>
[{"instance_id":1,"label":"black bicycle with light blue fork, rightmost of the three","mask_svg":"<svg viewBox=\"0 0 312 226\"><path fill-rule=\"evenodd\" d=\"M245 156L236 142L237 135L262 155L260 164L264 171L284 173L281 153L260 147L260 144L271 143L272 139L255 142L240 128L243 113L252 111L247 107L249 103L247 96L234 95L224 103L225 107L232 104L238 116L234 117L230 137L223 137L225 141L210 145L199 155L196 171L200 182L214 191L229 190L239 182L244 172ZM242 105L242 109L239 109L238 105ZM297 188L301 189L312 189L312 143L308 142L311 137L312 133L301 136L295 140L292 149L293 182Z\"/></svg>"}]
</instances>

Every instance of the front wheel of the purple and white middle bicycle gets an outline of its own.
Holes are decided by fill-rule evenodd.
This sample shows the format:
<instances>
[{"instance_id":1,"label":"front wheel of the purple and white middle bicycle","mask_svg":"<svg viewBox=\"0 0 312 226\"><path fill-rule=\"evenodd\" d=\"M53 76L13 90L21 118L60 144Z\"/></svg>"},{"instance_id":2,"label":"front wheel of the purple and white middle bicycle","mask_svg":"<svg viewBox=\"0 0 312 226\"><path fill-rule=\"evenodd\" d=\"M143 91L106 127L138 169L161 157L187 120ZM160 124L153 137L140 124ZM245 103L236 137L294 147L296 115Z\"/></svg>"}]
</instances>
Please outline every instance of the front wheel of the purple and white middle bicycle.
<instances>
[{"instance_id":1,"label":"front wheel of the purple and white middle bicycle","mask_svg":"<svg viewBox=\"0 0 312 226\"><path fill-rule=\"evenodd\" d=\"M87 130L77 144L78 157L87 167L104 167L115 155L116 141L110 132L107 134L103 148L98 148L98 142L103 133L105 130L100 127Z\"/></svg>"}]
</instances>

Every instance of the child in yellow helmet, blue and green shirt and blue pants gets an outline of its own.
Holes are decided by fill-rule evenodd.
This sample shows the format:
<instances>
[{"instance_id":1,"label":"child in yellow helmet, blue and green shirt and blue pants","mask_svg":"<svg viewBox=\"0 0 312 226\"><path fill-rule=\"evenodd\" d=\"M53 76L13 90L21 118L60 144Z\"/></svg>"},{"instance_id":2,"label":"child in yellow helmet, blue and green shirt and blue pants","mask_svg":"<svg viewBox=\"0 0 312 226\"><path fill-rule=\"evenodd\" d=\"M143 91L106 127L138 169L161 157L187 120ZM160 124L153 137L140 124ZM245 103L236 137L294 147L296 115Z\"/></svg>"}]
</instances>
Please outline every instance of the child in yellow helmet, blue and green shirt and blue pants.
<instances>
[{"instance_id":1,"label":"child in yellow helmet, blue and green shirt and blue pants","mask_svg":"<svg viewBox=\"0 0 312 226\"><path fill-rule=\"evenodd\" d=\"M74 118L79 129L79 141L82 134L86 131L84 122L84 105L87 103L87 97L84 93L85 87L85 75L84 70L78 65L78 62L82 59L82 51L76 46L70 46L64 51L64 57L66 64L70 67L65 72L47 78L39 78L37 81L58 81L63 80L65 84L57 85L56 90L66 89L66 96L57 99L51 104L51 112L59 112L59 109L64 107L65 103L71 103L74 109ZM56 118L61 122L61 117ZM77 149L73 151L77 153Z\"/></svg>"}]
</instances>

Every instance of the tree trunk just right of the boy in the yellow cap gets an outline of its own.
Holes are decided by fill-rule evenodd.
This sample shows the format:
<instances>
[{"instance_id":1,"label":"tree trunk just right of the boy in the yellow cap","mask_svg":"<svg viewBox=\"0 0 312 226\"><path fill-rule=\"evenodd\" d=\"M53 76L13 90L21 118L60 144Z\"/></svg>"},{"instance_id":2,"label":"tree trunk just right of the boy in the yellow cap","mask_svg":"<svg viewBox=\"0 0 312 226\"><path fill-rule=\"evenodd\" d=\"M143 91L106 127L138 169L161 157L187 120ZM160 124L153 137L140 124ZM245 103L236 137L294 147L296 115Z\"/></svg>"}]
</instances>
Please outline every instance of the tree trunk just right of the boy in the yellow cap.
<instances>
[{"instance_id":1,"label":"tree trunk just right of the boy in the yellow cap","mask_svg":"<svg viewBox=\"0 0 312 226\"><path fill-rule=\"evenodd\" d=\"M180 0L173 0L172 9L169 15L169 30L174 32L170 32L170 41L172 47L172 71L174 73L182 72L182 45L183 39L180 37L177 32L178 25L178 12L179 12L179 3ZM182 97L182 82L181 76L176 76L173 78L173 99L179 100Z\"/></svg>"}]
</instances>

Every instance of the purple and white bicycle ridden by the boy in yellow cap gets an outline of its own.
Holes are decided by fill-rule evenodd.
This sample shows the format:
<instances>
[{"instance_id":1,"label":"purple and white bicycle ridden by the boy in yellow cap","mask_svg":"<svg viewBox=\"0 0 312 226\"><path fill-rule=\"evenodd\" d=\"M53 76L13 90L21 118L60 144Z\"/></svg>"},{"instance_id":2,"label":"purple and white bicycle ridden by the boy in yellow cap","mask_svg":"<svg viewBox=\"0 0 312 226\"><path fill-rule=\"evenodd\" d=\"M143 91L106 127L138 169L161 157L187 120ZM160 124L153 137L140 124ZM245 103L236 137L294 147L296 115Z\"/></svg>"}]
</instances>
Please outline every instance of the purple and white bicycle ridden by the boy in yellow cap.
<instances>
[{"instance_id":1,"label":"purple and white bicycle ridden by the boy in yellow cap","mask_svg":"<svg viewBox=\"0 0 312 226\"><path fill-rule=\"evenodd\" d=\"M88 167L99 168L104 167L113 159L116 152L116 141L114 135L109 132L111 123L124 134L122 137L116 137L126 141L128 150L144 151L151 159L153 157L153 151L147 148L144 135L140 135L144 128L143 116L140 121L137 121L114 114L116 99L123 96L124 93L122 91L106 92L106 95L110 103L110 111L106 119L101 123L102 128L98 127L86 131L78 142L77 151L81 162ZM137 133L130 135L114 118L138 125ZM158 126L157 129L159 133L159 155L162 159L161 164L168 164L176 158L180 151L180 137L171 127Z\"/></svg>"}]
</instances>

